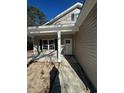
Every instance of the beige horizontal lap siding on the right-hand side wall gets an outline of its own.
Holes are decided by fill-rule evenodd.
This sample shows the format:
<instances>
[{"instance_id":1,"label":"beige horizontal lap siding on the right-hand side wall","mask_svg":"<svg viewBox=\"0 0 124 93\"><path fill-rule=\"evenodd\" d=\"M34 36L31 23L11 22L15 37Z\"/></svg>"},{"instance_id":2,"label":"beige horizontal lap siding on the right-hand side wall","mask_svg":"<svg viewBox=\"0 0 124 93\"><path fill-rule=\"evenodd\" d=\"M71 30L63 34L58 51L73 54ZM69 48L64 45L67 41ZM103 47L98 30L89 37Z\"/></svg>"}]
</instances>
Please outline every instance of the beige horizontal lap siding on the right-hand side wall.
<instances>
[{"instance_id":1,"label":"beige horizontal lap siding on the right-hand side wall","mask_svg":"<svg viewBox=\"0 0 124 93\"><path fill-rule=\"evenodd\" d=\"M75 39L75 56L88 78L97 87L97 7L91 10Z\"/></svg>"}]
</instances>

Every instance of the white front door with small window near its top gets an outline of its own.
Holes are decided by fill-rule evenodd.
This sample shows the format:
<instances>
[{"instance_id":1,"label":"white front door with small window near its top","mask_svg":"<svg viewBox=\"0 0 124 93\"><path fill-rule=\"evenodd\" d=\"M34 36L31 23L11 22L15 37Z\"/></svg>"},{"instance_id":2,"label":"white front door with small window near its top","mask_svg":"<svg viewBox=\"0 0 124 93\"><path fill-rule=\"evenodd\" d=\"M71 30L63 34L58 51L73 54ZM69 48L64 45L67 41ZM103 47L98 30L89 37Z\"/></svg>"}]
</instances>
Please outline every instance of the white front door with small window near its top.
<instances>
[{"instance_id":1,"label":"white front door with small window near its top","mask_svg":"<svg viewBox=\"0 0 124 93\"><path fill-rule=\"evenodd\" d=\"M65 55L72 55L72 39L64 39Z\"/></svg>"}]
</instances>

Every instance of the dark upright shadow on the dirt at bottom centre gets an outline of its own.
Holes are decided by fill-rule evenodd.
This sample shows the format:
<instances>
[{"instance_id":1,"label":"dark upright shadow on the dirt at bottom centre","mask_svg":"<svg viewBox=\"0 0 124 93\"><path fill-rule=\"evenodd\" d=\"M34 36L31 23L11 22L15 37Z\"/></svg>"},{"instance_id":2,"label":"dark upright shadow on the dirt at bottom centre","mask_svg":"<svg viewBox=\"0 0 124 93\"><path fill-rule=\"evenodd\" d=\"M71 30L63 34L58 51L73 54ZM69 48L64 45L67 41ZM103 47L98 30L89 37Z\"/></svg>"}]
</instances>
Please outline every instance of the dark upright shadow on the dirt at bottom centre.
<instances>
[{"instance_id":1,"label":"dark upright shadow on the dirt at bottom centre","mask_svg":"<svg viewBox=\"0 0 124 93\"><path fill-rule=\"evenodd\" d=\"M50 91L49 93L61 93L59 71L54 66L50 71Z\"/></svg>"}]
</instances>

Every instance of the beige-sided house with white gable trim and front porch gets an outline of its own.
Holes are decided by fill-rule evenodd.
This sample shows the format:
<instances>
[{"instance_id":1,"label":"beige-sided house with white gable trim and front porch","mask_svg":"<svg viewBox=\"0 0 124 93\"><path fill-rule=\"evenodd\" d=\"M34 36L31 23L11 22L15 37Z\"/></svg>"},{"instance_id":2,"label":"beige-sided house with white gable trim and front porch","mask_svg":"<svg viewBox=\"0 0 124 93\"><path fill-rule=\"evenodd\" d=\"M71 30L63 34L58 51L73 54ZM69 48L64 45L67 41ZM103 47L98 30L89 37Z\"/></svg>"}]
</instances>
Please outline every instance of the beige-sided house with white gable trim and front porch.
<instances>
[{"instance_id":1,"label":"beige-sided house with white gable trim and front porch","mask_svg":"<svg viewBox=\"0 0 124 93\"><path fill-rule=\"evenodd\" d=\"M28 27L34 53L57 51L74 55L90 81L97 87L97 2L76 3L39 27Z\"/></svg>"}]
</instances>

